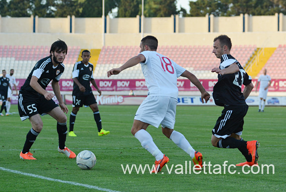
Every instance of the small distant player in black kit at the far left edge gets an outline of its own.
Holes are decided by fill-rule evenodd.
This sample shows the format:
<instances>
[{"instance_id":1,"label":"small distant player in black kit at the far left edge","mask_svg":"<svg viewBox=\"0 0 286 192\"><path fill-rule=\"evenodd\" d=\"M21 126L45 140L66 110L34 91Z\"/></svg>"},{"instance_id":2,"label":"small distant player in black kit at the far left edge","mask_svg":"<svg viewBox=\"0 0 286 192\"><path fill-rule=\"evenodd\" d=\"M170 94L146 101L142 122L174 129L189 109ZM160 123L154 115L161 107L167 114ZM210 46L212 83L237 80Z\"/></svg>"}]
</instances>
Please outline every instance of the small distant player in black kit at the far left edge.
<instances>
[{"instance_id":1,"label":"small distant player in black kit at the far left edge","mask_svg":"<svg viewBox=\"0 0 286 192\"><path fill-rule=\"evenodd\" d=\"M9 113L7 111L6 102L8 97L8 90L11 87L10 79L6 76L6 70L2 70L2 77L0 77L0 100L2 100L2 106L0 110L0 116L4 116L2 114L3 110L5 110L6 115L8 116Z\"/></svg>"}]
</instances>

